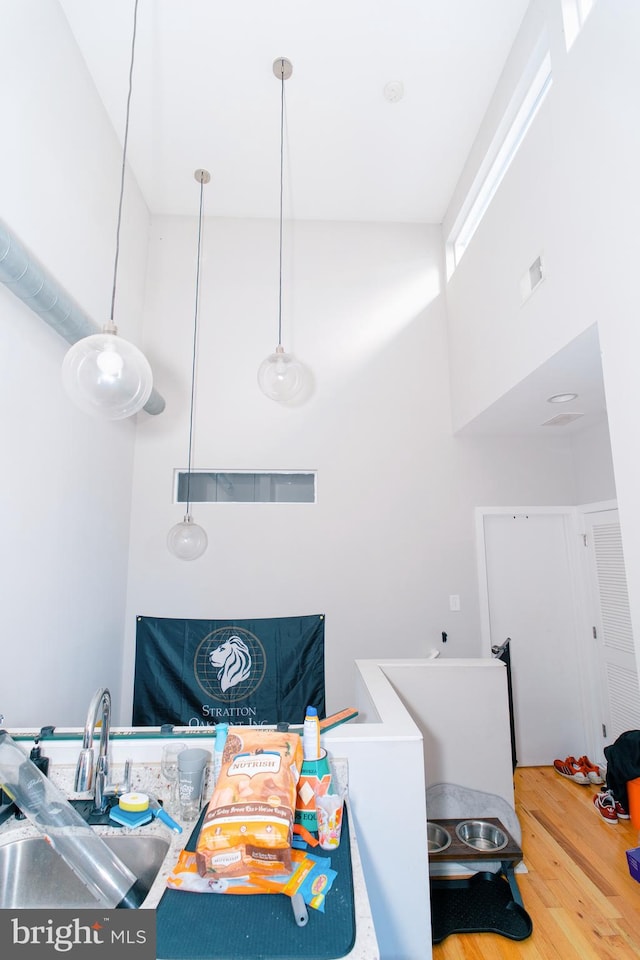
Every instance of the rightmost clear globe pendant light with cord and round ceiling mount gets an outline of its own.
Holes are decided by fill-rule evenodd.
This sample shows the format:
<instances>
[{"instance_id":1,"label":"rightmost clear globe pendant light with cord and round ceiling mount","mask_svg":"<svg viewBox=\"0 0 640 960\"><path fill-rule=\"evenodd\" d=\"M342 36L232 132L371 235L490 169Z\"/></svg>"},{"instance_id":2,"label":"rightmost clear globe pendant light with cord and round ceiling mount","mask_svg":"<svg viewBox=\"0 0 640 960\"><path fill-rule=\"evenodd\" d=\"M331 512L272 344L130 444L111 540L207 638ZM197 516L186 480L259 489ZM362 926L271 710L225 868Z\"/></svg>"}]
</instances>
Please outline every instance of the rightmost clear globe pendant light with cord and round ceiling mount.
<instances>
[{"instance_id":1,"label":"rightmost clear globe pendant light with cord and round ceiling mount","mask_svg":"<svg viewBox=\"0 0 640 960\"><path fill-rule=\"evenodd\" d=\"M289 60L279 57L273 63L273 72L280 80L280 266L278 274L278 345L258 368L258 384L270 400L292 400L305 382L305 369L282 346L282 197L284 184L284 81L293 73Z\"/></svg>"}]
</instances>

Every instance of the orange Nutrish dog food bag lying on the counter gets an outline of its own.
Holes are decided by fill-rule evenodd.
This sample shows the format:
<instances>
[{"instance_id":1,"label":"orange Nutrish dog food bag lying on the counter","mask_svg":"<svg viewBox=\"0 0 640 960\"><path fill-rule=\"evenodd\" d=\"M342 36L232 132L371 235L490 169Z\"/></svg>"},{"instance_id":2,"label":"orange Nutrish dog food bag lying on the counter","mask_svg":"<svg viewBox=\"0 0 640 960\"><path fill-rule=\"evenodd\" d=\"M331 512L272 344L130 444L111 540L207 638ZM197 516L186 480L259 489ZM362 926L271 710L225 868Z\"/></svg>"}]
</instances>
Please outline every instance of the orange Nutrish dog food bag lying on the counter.
<instances>
[{"instance_id":1,"label":"orange Nutrish dog food bag lying on the counter","mask_svg":"<svg viewBox=\"0 0 640 960\"><path fill-rule=\"evenodd\" d=\"M298 734L231 727L196 843L202 877L251 878L291 871Z\"/></svg>"}]
</instances>

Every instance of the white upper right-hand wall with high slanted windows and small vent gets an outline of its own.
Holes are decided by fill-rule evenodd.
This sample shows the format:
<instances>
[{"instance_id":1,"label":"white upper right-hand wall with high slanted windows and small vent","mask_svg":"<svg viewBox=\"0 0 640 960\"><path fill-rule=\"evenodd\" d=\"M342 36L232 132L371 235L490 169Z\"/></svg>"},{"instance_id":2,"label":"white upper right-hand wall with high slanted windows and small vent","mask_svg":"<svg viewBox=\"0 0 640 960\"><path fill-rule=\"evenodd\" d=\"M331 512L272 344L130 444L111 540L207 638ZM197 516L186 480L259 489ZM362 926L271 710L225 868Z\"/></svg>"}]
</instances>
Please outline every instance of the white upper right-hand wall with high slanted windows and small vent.
<instances>
[{"instance_id":1,"label":"white upper right-hand wall with high slanted windows and small vent","mask_svg":"<svg viewBox=\"0 0 640 960\"><path fill-rule=\"evenodd\" d=\"M512 79L516 61L524 62L526 41L535 38L542 24L551 43L553 87L447 288L454 424L477 416L576 335L598 324L640 653L640 591L633 587L640 583L640 458L635 443L640 126L634 122L640 5L600 0L567 53L560 4L534 0L505 79ZM503 85L496 104L504 99ZM490 111L480 132L445 230L455 218L495 112ZM547 278L521 307L519 278L541 251ZM573 502L592 495L598 499L600 489L585 483L584 458L577 452L579 496ZM595 480L601 464L589 469Z\"/></svg>"}]
</instances>

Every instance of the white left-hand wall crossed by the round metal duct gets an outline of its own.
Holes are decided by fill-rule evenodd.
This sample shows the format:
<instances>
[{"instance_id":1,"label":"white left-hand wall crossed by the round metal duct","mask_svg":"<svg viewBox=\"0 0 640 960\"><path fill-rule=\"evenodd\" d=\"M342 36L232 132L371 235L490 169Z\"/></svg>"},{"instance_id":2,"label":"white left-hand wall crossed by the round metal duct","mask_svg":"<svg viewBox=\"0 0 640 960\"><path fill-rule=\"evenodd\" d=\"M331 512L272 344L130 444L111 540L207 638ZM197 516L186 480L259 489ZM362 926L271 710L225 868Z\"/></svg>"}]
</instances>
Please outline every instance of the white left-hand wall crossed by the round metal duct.
<instances>
[{"instance_id":1,"label":"white left-hand wall crossed by the round metal duct","mask_svg":"<svg viewBox=\"0 0 640 960\"><path fill-rule=\"evenodd\" d=\"M0 2L0 215L97 323L110 308L121 149L53 0ZM147 212L127 183L117 303L135 339ZM63 394L67 344L0 284L0 713L82 723L120 699L135 424Z\"/></svg>"}]
</instances>

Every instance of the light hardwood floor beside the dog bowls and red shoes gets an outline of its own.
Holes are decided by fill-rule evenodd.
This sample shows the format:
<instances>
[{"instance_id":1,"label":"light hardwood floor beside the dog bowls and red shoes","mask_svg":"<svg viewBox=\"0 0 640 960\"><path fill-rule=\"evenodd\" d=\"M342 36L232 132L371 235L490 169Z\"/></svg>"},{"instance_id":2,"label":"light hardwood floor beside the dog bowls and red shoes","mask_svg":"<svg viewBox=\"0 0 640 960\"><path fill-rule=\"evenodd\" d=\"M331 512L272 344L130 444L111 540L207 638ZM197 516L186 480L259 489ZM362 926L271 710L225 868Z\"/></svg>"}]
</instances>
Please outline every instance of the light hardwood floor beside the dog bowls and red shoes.
<instances>
[{"instance_id":1,"label":"light hardwood floor beside the dog bowls and red shoes","mask_svg":"<svg viewBox=\"0 0 640 960\"><path fill-rule=\"evenodd\" d=\"M597 786L553 767L518 768L516 811L528 869L518 874L533 933L520 942L492 933L452 934L434 960L628 960L640 957L640 883L625 851L640 846L629 820L605 823Z\"/></svg>"}]
</instances>

